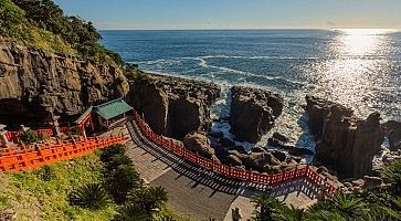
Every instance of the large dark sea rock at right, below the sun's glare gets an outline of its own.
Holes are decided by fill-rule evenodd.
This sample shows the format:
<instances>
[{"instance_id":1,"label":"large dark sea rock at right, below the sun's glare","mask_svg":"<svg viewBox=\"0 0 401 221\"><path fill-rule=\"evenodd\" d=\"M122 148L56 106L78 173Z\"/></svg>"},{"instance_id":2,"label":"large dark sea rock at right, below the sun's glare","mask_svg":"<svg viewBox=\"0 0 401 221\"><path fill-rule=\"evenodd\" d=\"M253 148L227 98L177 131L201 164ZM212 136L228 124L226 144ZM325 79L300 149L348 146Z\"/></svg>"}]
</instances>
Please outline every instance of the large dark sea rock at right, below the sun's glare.
<instances>
[{"instance_id":1,"label":"large dark sea rock at right, below the sun's glare","mask_svg":"<svg viewBox=\"0 0 401 221\"><path fill-rule=\"evenodd\" d=\"M315 160L342 177L369 175L384 139L380 114L372 113L362 120L339 104L313 96L306 96L306 102L309 128L317 140Z\"/></svg>"}]
</instances>

